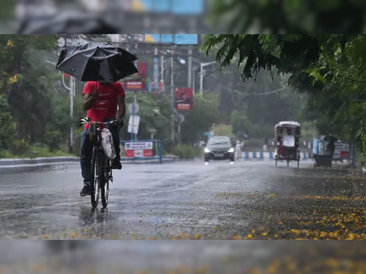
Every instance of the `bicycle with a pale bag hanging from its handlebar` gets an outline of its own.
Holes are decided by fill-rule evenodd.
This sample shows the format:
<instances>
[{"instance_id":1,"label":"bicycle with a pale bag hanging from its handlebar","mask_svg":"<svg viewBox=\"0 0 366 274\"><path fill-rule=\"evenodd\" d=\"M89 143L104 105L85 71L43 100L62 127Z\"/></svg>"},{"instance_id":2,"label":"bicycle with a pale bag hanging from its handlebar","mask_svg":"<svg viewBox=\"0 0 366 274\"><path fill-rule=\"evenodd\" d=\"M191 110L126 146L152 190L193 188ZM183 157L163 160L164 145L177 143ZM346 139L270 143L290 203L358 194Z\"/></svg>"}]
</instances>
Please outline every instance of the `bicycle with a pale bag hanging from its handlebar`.
<instances>
[{"instance_id":1,"label":"bicycle with a pale bag hanging from its handlebar","mask_svg":"<svg viewBox=\"0 0 366 274\"><path fill-rule=\"evenodd\" d=\"M90 182L90 199L91 206L96 208L98 205L99 194L103 208L108 205L109 181L113 183L111 160L105 155L101 145L101 132L105 125L113 125L117 120L110 122L90 122L90 118L81 119L81 123L89 123L89 130L92 128L93 135L90 140L93 141L93 154L91 156L91 182ZM92 140L94 139L94 140Z\"/></svg>"}]
</instances>

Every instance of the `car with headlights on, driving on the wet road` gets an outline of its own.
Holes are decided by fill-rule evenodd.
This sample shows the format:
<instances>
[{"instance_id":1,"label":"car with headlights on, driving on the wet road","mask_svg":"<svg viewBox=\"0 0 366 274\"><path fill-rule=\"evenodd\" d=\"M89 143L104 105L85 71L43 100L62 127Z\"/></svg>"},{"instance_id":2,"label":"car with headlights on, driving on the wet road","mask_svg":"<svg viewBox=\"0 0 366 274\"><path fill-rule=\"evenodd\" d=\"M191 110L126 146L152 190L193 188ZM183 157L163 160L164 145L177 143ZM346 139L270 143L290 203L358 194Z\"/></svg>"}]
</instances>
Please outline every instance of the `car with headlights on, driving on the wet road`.
<instances>
[{"instance_id":1,"label":"car with headlights on, driving on the wet road","mask_svg":"<svg viewBox=\"0 0 366 274\"><path fill-rule=\"evenodd\" d=\"M205 162L209 160L235 160L235 149L228 136L213 136L209 138L204 149Z\"/></svg>"}]
</instances>

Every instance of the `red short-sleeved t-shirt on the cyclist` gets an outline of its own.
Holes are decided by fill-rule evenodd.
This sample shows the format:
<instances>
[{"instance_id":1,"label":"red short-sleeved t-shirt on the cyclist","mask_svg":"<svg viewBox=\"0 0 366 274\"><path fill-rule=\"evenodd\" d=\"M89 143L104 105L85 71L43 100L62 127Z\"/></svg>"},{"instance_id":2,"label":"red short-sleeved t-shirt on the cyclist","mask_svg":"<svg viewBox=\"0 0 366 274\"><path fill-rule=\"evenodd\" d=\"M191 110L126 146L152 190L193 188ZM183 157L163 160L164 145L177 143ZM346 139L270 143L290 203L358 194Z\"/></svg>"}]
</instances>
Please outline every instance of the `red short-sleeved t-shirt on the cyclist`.
<instances>
[{"instance_id":1,"label":"red short-sleeved t-shirt on the cyclist","mask_svg":"<svg viewBox=\"0 0 366 274\"><path fill-rule=\"evenodd\" d=\"M91 118L91 122L101 122L107 118L115 118L117 113L117 100L126 97L121 83L116 82L110 85L101 85L96 81L86 83L83 94L91 93L97 88L99 99L94 106L86 113ZM89 123L85 124L85 129L89 128Z\"/></svg>"}]
</instances>

